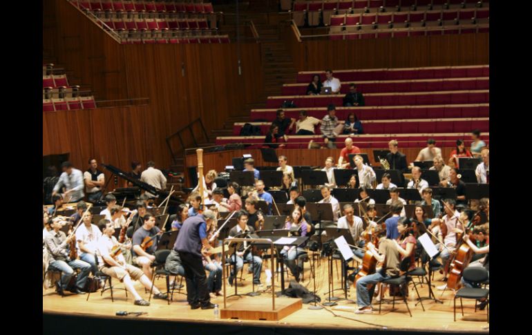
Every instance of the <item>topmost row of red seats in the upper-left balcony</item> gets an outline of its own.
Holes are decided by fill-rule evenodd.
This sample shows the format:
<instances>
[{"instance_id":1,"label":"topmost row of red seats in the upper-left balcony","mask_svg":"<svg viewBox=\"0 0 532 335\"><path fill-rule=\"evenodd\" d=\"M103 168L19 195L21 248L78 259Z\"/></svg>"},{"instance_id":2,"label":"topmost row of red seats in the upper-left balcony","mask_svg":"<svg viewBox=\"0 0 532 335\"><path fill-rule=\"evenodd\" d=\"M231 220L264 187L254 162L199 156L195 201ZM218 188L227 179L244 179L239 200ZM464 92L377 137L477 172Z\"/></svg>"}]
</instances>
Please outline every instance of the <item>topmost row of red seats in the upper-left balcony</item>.
<instances>
[{"instance_id":1,"label":"topmost row of red seats in the upper-left balcony","mask_svg":"<svg viewBox=\"0 0 532 335\"><path fill-rule=\"evenodd\" d=\"M100 0L70 0L77 7L86 10L114 10L135 12L214 12L212 3L182 3L174 1L100 1Z\"/></svg>"}]
</instances>

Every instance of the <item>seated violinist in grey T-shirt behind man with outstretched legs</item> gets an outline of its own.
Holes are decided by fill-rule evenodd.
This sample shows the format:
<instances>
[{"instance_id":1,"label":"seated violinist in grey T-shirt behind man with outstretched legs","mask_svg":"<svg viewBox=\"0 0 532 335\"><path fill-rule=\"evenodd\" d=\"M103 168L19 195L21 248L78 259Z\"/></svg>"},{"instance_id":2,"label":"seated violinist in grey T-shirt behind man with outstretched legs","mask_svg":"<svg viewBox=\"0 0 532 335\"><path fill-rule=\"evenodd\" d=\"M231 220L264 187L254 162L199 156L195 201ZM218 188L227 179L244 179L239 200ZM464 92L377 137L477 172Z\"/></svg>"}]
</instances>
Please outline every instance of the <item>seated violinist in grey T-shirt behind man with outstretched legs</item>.
<instances>
[{"instance_id":1,"label":"seated violinist in grey T-shirt behind man with outstretched legs","mask_svg":"<svg viewBox=\"0 0 532 335\"><path fill-rule=\"evenodd\" d=\"M133 233L133 264L140 265L144 274L151 278L151 263L155 260L155 250L159 242L159 236L153 236L160 233L159 227L155 227L155 216L146 213L144 224ZM146 238L153 238L153 244L150 247L142 247L142 242Z\"/></svg>"}]
</instances>

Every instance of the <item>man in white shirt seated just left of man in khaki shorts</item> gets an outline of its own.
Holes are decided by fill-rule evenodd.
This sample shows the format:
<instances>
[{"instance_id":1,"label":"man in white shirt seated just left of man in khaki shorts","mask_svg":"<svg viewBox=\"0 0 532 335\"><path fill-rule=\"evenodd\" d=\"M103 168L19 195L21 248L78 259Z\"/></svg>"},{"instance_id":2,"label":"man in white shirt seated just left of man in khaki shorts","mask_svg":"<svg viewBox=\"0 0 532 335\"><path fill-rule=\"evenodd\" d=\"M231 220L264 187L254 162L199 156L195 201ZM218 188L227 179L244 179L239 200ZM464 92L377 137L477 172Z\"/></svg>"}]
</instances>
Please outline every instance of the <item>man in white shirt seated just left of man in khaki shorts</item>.
<instances>
[{"instance_id":1,"label":"man in white shirt seated just left of man in khaki shorts","mask_svg":"<svg viewBox=\"0 0 532 335\"><path fill-rule=\"evenodd\" d=\"M83 223L75 231L77 252L80 260L91 265L91 272L94 275L98 271L95 252L98 248L98 239L102 236L102 231L99 231L98 227L91 223L93 215L89 211L84 213L82 220Z\"/></svg>"}]
</instances>

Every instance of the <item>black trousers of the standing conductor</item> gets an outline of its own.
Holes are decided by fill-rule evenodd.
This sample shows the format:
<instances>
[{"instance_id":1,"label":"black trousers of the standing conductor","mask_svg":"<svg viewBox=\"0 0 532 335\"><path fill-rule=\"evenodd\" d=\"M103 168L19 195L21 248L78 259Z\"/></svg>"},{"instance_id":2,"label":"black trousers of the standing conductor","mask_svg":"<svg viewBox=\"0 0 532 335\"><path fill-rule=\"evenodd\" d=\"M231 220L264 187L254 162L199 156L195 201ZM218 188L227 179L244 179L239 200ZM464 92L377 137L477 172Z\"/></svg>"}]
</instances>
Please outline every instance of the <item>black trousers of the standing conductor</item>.
<instances>
[{"instance_id":1,"label":"black trousers of the standing conductor","mask_svg":"<svg viewBox=\"0 0 532 335\"><path fill-rule=\"evenodd\" d=\"M184 251L179 251L179 257L184 268L184 279L187 281L187 301L190 305L207 305L211 302L211 297L201 257Z\"/></svg>"}]
</instances>

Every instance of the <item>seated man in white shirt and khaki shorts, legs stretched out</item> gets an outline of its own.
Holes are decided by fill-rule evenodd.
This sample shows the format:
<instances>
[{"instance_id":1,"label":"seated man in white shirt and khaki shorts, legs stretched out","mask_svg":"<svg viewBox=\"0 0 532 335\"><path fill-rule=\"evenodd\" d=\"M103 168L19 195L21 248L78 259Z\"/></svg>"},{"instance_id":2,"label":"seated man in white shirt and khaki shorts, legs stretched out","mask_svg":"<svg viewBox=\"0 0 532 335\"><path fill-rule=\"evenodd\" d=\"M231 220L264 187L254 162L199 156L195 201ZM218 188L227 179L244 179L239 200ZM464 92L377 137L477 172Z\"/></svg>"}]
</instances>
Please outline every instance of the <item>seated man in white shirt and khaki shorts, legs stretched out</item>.
<instances>
[{"instance_id":1,"label":"seated man in white shirt and khaki shorts, legs stretched out","mask_svg":"<svg viewBox=\"0 0 532 335\"><path fill-rule=\"evenodd\" d=\"M151 289L152 283L151 280L142 272L138 267L133 267L126 263L122 253L116 255L113 250L113 247L121 248L121 244L117 242L113 233L115 233L115 228L113 223L109 220L100 221L102 225L103 235L98 241L98 267L99 271L102 271L107 276L117 278L120 282L124 283L126 289L133 294L135 297L135 305L139 306L149 306L150 303L144 300L138 293L135 287L133 287L133 280L139 280L140 283L146 288ZM131 247L131 245L129 246ZM161 291L153 285L153 298L155 299L164 299L168 298L167 294L162 294Z\"/></svg>"}]
</instances>

